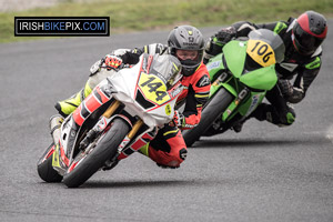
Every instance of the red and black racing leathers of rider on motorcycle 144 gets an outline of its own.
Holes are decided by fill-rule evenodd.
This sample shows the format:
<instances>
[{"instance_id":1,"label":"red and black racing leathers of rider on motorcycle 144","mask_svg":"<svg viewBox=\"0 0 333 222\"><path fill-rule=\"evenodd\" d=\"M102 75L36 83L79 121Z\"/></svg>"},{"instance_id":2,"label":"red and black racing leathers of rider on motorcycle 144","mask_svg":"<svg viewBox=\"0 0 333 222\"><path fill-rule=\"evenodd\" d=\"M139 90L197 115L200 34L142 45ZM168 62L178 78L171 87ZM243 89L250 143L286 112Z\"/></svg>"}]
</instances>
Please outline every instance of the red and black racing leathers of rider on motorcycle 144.
<instances>
[{"instance_id":1,"label":"red and black racing leathers of rider on motorcycle 144","mask_svg":"<svg viewBox=\"0 0 333 222\"><path fill-rule=\"evenodd\" d=\"M168 47L163 44L149 44L142 49L134 49L127 51L120 56L124 63L138 62L139 57L143 53L169 53ZM173 127L165 124L164 128L160 129L153 140L150 142L140 140L138 143L141 145L141 152L152 159L158 165L178 168L186 158L186 144L181 134L181 129L194 128L201 119L202 105L208 101L210 93L210 78L205 64L201 63L195 72L190 77L183 77L181 83L184 85L184 90L178 99L178 108L184 104L184 117L183 122L180 127ZM148 143L149 142L149 143ZM142 148L143 145L143 148ZM124 150L119 160L127 158L129 154L134 152L139 147L134 143L131 145L132 151L129 149ZM135 147L135 148L134 148Z\"/></svg>"}]
</instances>

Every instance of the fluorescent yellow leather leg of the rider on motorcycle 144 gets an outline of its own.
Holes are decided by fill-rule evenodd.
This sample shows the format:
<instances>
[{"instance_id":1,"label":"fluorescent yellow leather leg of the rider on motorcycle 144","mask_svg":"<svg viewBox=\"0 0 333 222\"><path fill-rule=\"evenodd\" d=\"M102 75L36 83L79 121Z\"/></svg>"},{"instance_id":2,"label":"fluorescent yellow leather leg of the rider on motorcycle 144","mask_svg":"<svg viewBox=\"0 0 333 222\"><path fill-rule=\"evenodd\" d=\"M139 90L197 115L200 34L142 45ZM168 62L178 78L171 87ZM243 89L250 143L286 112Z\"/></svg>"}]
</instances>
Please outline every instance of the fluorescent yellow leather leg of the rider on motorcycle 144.
<instances>
[{"instance_id":1,"label":"fluorescent yellow leather leg of the rider on motorcycle 144","mask_svg":"<svg viewBox=\"0 0 333 222\"><path fill-rule=\"evenodd\" d=\"M91 91L92 89L87 82L82 90L67 100L57 102L54 107L62 117L68 117L80 105L80 103L91 93Z\"/></svg>"}]
</instances>

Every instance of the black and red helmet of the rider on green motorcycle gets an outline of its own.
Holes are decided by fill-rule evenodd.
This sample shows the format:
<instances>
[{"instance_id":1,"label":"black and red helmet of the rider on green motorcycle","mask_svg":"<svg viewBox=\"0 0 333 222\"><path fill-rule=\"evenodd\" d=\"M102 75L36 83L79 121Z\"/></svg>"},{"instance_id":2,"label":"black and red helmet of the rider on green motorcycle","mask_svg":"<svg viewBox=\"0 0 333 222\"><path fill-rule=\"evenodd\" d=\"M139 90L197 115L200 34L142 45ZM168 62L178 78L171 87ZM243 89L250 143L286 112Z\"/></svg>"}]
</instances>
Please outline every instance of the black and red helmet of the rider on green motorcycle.
<instances>
[{"instance_id":1,"label":"black and red helmet of the rider on green motorcycle","mask_svg":"<svg viewBox=\"0 0 333 222\"><path fill-rule=\"evenodd\" d=\"M326 38L326 19L314 11L306 11L297 19L292 30L292 41L296 51L310 56Z\"/></svg>"}]
</instances>

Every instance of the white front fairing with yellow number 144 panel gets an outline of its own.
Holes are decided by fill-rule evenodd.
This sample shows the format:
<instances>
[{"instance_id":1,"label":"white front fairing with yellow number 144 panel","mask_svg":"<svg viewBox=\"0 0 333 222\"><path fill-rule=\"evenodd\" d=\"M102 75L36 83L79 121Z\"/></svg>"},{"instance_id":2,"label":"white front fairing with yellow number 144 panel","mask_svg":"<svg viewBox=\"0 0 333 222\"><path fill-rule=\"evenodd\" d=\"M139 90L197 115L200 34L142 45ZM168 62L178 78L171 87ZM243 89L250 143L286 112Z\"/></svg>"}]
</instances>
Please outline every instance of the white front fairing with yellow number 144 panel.
<instances>
[{"instance_id":1,"label":"white front fairing with yellow number 144 panel","mask_svg":"<svg viewBox=\"0 0 333 222\"><path fill-rule=\"evenodd\" d=\"M145 54L143 54L141 56L140 61L141 62L133 65L131 69L120 70L114 75L108 78L113 84L112 89L117 91L117 93L113 93L113 97L125 105L127 112L131 115L139 115L149 127L162 127L165 122L171 121L173 118L174 104L176 98L182 91L175 89L182 85L176 84L171 90L162 92L162 90L167 90L167 87L163 87L165 83L161 79L158 80L157 75L149 74L150 59L145 59ZM150 78L150 75L154 79L152 79L151 82L144 82L144 80L147 80L145 78ZM157 84L151 85L152 92L150 92L149 90L151 89L149 88L140 90L138 84L140 85L143 83L147 83L143 87L147 87L149 83ZM159 88L154 89L154 87ZM157 93L155 90L161 92ZM149 107L145 107L142 102L140 102L140 99L138 99L138 92L141 94L141 100L149 100ZM162 94L167 98L167 100L163 97L163 100L159 101Z\"/></svg>"}]
</instances>

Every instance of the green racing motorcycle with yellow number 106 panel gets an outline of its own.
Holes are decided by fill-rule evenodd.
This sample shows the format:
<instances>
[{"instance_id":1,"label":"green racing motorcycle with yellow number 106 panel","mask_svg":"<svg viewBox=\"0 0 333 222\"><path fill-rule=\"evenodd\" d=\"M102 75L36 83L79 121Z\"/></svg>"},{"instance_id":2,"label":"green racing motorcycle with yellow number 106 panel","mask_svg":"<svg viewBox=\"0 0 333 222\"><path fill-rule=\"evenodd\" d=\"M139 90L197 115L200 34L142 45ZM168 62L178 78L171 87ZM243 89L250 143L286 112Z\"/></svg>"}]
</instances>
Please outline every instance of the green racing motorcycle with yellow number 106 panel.
<instances>
[{"instance_id":1,"label":"green racing motorcycle with yellow number 106 panel","mask_svg":"<svg viewBox=\"0 0 333 222\"><path fill-rule=\"evenodd\" d=\"M210 99L200 123L182 132L186 145L245 121L276 84L275 63L284 59L284 50L279 34L265 29L225 43L206 64L212 82Z\"/></svg>"}]
</instances>

